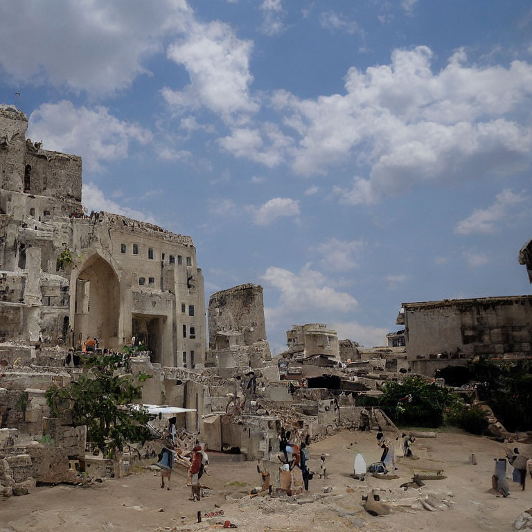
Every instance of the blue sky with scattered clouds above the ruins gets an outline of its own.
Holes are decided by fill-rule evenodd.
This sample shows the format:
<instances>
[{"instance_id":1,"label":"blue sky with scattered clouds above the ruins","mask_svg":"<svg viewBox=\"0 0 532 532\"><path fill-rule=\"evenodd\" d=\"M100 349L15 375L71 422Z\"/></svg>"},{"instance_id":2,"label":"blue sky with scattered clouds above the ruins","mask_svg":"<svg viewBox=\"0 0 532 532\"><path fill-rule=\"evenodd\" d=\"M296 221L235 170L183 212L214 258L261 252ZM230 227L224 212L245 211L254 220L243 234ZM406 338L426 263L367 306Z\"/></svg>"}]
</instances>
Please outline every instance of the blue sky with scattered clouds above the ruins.
<instances>
[{"instance_id":1,"label":"blue sky with scattered clouds above the ruins","mask_svg":"<svg viewBox=\"0 0 532 532\"><path fill-rule=\"evenodd\" d=\"M529 294L528 0L0 3L0 100L83 157L83 203L264 287L274 351L366 346L403 301Z\"/></svg>"}]
</instances>

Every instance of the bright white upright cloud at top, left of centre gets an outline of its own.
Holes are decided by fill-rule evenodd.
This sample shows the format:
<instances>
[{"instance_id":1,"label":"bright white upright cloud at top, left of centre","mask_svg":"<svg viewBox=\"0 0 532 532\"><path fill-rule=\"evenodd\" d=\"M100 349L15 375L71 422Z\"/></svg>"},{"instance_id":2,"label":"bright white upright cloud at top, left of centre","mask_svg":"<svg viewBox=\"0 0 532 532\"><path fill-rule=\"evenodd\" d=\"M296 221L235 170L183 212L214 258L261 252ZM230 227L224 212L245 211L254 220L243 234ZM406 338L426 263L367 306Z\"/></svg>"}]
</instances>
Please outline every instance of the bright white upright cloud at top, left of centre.
<instances>
[{"instance_id":1,"label":"bright white upright cloud at top, left of centre","mask_svg":"<svg viewBox=\"0 0 532 532\"><path fill-rule=\"evenodd\" d=\"M227 24L192 21L186 35L171 44L167 54L186 68L190 85L182 90L165 87L163 97L177 112L206 107L226 121L245 121L259 108L249 94L252 48L251 41L238 39Z\"/></svg>"}]
</instances>

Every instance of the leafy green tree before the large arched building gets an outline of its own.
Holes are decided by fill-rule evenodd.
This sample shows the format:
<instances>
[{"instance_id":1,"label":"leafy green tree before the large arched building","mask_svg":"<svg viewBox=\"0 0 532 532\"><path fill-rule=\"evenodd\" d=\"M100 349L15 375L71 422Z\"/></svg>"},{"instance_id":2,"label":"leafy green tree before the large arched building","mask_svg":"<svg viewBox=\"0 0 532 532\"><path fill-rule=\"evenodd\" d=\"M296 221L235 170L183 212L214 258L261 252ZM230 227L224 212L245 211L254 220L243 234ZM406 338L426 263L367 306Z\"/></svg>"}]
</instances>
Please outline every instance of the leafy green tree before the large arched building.
<instances>
[{"instance_id":1,"label":"leafy green tree before the large arched building","mask_svg":"<svg viewBox=\"0 0 532 532\"><path fill-rule=\"evenodd\" d=\"M71 409L74 425L87 425L87 440L102 452L125 441L145 441L150 432L143 426L148 414L128 404L141 398L141 384L130 373L117 368L121 355L94 355L84 360L84 373L67 387L55 384L46 391L53 416Z\"/></svg>"}]
</instances>

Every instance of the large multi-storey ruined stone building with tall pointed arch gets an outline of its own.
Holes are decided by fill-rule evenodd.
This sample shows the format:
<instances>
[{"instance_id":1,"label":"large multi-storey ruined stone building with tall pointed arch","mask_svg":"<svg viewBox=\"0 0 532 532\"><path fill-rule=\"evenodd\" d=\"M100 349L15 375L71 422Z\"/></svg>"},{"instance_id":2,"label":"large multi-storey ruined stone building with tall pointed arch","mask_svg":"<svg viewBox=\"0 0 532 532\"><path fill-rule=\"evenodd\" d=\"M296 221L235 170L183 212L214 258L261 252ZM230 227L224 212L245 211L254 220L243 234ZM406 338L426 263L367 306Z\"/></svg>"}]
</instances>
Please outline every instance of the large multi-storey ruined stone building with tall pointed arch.
<instances>
[{"instance_id":1,"label":"large multi-storey ruined stone building with tall pointed arch","mask_svg":"<svg viewBox=\"0 0 532 532\"><path fill-rule=\"evenodd\" d=\"M85 216L81 159L26 139L0 105L0 342L121 348L165 366L204 363L204 285L189 236L110 213Z\"/></svg>"}]
</instances>

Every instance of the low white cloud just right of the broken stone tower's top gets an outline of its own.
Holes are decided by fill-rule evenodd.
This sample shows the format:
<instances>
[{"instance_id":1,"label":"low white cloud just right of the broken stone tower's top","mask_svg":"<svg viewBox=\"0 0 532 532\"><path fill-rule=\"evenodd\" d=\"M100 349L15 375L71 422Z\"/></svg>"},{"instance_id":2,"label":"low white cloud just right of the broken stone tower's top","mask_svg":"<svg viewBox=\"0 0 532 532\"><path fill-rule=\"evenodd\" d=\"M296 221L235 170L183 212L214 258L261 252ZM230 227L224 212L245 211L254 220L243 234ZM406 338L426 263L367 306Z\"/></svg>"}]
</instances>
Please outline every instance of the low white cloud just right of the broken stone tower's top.
<instances>
[{"instance_id":1,"label":"low white cloud just right of the broken stone tower's top","mask_svg":"<svg viewBox=\"0 0 532 532\"><path fill-rule=\"evenodd\" d=\"M269 267L262 279L279 292L277 316L296 319L294 313L348 312L357 307L357 300L347 292L339 292L331 286L326 276L306 265L299 274L288 269ZM272 310L269 310L272 314Z\"/></svg>"}]
</instances>

